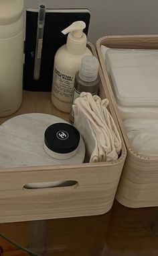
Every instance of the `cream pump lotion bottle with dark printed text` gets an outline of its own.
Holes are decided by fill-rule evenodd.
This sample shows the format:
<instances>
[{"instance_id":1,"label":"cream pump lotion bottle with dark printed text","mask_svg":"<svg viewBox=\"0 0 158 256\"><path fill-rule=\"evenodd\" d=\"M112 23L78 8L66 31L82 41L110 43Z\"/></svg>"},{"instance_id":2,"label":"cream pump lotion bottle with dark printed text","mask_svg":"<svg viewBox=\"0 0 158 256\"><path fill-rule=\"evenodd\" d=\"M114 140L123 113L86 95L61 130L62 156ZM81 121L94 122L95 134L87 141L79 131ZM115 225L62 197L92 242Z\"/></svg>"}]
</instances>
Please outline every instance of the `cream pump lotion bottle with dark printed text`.
<instances>
[{"instance_id":1,"label":"cream pump lotion bottle with dark printed text","mask_svg":"<svg viewBox=\"0 0 158 256\"><path fill-rule=\"evenodd\" d=\"M59 110L70 113L75 74L80 68L81 59L92 55L86 47L86 24L82 21L72 23L62 31L68 34L67 42L58 49L54 58L52 83L52 102Z\"/></svg>"}]
</instances>

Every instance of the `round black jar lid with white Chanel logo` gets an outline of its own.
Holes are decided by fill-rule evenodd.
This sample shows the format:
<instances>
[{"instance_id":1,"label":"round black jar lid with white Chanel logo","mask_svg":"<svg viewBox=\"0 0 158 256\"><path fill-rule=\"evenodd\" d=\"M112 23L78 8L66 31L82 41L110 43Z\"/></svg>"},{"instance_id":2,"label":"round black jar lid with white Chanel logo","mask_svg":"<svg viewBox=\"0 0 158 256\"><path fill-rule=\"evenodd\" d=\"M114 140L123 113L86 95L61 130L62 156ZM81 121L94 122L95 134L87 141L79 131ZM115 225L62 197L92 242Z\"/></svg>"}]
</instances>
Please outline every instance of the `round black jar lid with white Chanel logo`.
<instances>
[{"instance_id":1,"label":"round black jar lid with white Chanel logo","mask_svg":"<svg viewBox=\"0 0 158 256\"><path fill-rule=\"evenodd\" d=\"M44 143L53 152L67 154L74 152L80 142L80 133L68 123L50 125L44 133Z\"/></svg>"}]
</instances>

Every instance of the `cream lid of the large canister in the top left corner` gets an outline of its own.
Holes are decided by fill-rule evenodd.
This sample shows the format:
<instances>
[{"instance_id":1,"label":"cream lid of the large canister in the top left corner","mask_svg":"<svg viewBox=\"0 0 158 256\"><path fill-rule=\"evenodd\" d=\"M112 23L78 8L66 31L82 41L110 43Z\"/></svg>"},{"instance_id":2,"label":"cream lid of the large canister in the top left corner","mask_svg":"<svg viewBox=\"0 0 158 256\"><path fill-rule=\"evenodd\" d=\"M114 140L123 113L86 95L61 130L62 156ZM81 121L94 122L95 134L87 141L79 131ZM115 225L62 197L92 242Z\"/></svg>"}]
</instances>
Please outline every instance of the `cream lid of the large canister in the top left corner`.
<instances>
[{"instance_id":1,"label":"cream lid of the large canister in the top left corner","mask_svg":"<svg viewBox=\"0 0 158 256\"><path fill-rule=\"evenodd\" d=\"M23 0L1 0L0 1L0 25L16 22L23 12Z\"/></svg>"}]
</instances>

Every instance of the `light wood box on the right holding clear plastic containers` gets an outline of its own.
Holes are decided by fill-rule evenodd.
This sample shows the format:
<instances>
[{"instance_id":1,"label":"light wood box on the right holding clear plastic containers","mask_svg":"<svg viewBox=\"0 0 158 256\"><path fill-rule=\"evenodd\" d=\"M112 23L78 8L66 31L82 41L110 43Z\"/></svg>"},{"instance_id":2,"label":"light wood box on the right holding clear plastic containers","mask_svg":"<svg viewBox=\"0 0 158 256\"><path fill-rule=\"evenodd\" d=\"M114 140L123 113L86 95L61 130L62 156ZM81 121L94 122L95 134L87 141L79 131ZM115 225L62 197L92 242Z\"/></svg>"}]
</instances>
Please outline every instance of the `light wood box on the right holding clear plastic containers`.
<instances>
[{"instance_id":1,"label":"light wood box on the right holding clear plastic containers","mask_svg":"<svg viewBox=\"0 0 158 256\"><path fill-rule=\"evenodd\" d=\"M100 46L115 49L158 49L158 36L104 36L96 42L98 57L112 104L121 127L127 158L116 193L116 199L127 207L158 206L158 157L147 158L135 152L130 145L123 121L112 92Z\"/></svg>"}]
</instances>

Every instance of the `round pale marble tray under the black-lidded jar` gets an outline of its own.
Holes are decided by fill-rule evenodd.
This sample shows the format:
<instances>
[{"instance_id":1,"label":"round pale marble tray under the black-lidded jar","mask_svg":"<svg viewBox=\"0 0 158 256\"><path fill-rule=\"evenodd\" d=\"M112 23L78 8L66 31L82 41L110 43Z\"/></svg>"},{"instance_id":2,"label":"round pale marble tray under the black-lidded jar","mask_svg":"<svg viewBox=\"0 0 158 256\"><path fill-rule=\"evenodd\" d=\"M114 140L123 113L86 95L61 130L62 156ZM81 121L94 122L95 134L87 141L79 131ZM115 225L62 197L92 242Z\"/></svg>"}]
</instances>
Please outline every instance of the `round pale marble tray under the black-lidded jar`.
<instances>
[{"instance_id":1,"label":"round pale marble tray under the black-lidded jar","mask_svg":"<svg viewBox=\"0 0 158 256\"><path fill-rule=\"evenodd\" d=\"M0 167L78 164L85 148L81 137L77 154L67 160L48 156L44 150L44 131L54 123L68 123L59 117L31 113L7 120L0 126Z\"/></svg>"}]
</instances>

